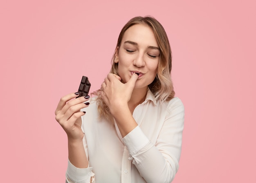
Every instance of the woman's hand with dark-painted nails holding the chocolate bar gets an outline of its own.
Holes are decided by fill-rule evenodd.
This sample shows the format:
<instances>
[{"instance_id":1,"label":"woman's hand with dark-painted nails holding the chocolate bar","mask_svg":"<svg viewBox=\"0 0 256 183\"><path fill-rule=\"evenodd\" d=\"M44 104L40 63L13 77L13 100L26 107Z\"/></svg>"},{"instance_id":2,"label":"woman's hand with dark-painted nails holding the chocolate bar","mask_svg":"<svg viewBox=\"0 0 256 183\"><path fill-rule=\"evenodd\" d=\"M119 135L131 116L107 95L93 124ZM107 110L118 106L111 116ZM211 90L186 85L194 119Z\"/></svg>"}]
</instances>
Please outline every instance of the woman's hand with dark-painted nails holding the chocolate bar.
<instances>
[{"instance_id":1,"label":"woman's hand with dark-painted nails holding the chocolate bar","mask_svg":"<svg viewBox=\"0 0 256 183\"><path fill-rule=\"evenodd\" d=\"M77 97L77 93L70 93L61 97L61 100L58 103L58 106L55 110L55 119L62 126L62 128L67 133L67 137L70 140L82 140L83 131L81 129L81 116L85 115L85 112L80 111L82 108L88 107L90 98L86 97ZM78 94L79 95L79 94Z\"/></svg>"}]
</instances>

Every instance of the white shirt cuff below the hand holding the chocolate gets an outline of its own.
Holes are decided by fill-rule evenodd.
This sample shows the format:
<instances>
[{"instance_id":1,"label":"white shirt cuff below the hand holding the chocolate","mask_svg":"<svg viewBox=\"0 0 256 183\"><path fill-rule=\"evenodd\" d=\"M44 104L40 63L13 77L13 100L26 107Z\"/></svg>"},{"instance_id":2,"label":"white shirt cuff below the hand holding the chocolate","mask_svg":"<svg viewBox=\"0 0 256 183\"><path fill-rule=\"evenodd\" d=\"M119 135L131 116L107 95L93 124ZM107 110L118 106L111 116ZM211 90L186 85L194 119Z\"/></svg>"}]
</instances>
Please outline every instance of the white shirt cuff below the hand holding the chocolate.
<instances>
[{"instance_id":1,"label":"white shirt cuff below the hand holding the chocolate","mask_svg":"<svg viewBox=\"0 0 256 183\"><path fill-rule=\"evenodd\" d=\"M70 163L70 160L68 160L66 176L75 183L90 183L94 173L92 172L92 167L76 168Z\"/></svg>"}]
</instances>

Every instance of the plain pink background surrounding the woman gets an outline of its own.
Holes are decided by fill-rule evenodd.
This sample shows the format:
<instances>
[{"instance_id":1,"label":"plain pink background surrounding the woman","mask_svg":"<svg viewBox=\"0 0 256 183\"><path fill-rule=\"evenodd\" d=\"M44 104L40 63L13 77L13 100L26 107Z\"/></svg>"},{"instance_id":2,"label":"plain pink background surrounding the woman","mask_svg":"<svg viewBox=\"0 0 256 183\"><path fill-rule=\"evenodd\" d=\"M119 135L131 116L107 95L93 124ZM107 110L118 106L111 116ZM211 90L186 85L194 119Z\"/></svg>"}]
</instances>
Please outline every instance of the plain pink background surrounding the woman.
<instances>
[{"instance_id":1,"label":"plain pink background surrounding the woman","mask_svg":"<svg viewBox=\"0 0 256 183\"><path fill-rule=\"evenodd\" d=\"M254 0L1 1L1 182L64 182L67 138L56 105L82 75L91 91L100 87L122 26L137 15L166 29L186 110L173 183L255 182L255 7Z\"/></svg>"}]
</instances>

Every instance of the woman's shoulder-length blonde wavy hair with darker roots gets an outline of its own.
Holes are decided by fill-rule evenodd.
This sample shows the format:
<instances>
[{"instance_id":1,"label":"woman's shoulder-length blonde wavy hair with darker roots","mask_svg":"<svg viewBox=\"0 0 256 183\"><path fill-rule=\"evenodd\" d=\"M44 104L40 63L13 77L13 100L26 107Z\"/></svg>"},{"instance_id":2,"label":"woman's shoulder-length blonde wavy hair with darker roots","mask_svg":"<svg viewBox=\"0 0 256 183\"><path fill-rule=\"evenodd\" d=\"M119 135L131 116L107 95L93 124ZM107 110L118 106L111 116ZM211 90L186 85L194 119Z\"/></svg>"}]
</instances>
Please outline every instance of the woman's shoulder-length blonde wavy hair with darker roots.
<instances>
[{"instance_id":1,"label":"woman's shoulder-length blonde wavy hair with darker roots","mask_svg":"<svg viewBox=\"0 0 256 183\"><path fill-rule=\"evenodd\" d=\"M153 17L145 16L145 17L135 17L129 20L123 29L121 30L118 40L117 46L120 47L122 38L127 29L129 29L132 25L135 24L144 24L150 27L153 30L155 38L157 40L157 44L160 49L159 56L159 64L157 68L157 75L154 81L148 85L148 88L155 95L155 99L159 101L168 101L171 100L175 92L173 90L173 82L171 79L171 67L172 67L172 55L171 55L171 46L164 30L164 27ZM117 46L115 51L117 50ZM115 53L112 57L112 67L110 73L118 74L118 63L115 63ZM92 95L98 96L96 101L98 104L98 111L100 118L105 118L106 120L113 122L114 119L110 113L108 106L105 104L100 95L100 90L94 91Z\"/></svg>"}]
</instances>

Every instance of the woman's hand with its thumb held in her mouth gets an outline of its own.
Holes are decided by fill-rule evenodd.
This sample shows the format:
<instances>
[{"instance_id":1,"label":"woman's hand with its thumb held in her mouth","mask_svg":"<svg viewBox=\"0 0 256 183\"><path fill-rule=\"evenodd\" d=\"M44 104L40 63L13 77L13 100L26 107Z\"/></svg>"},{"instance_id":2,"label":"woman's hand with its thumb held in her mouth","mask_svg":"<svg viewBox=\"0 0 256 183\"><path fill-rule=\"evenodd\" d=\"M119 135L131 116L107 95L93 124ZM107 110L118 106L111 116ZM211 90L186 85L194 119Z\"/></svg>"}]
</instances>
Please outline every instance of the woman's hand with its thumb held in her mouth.
<instances>
[{"instance_id":1,"label":"woman's hand with its thumb held in her mouth","mask_svg":"<svg viewBox=\"0 0 256 183\"><path fill-rule=\"evenodd\" d=\"M101 84L101 97L109 107L111 114L118 108L128 105L137 79L138 75L135 73L125 84L121 82L120 76L112 73L104 79Z\"/></svg>"}]
</instances>

